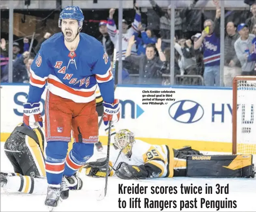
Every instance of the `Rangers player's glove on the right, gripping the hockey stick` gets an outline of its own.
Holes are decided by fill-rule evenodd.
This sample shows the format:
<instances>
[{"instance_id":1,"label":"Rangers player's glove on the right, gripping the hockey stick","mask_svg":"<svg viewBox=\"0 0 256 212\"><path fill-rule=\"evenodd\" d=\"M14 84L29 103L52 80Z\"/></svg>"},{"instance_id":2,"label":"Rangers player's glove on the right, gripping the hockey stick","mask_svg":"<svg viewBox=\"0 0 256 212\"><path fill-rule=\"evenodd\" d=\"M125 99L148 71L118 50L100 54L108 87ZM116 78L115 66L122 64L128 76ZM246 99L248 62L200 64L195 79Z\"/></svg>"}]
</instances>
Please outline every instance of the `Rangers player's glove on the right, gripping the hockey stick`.
<instances>
[{"instance_id":1,"label":"Rangers player's glove on the right, gripping the hockey stick","mask_svg":"<svg viewBox=\"0 0 256 212\"><path fill-rule=\"evenodd\" d=\"M108 125L109 121L116 121L116 120L112 120L113 115L116 115L117 116L117 121L119 121L119 118L120 118L120 104L119 104L118 99L115 99L112 104L107 103L107 102L103 102L103 106L104 106L103 122L104 122L105 125Z\"/></svg>"}]
</instances>

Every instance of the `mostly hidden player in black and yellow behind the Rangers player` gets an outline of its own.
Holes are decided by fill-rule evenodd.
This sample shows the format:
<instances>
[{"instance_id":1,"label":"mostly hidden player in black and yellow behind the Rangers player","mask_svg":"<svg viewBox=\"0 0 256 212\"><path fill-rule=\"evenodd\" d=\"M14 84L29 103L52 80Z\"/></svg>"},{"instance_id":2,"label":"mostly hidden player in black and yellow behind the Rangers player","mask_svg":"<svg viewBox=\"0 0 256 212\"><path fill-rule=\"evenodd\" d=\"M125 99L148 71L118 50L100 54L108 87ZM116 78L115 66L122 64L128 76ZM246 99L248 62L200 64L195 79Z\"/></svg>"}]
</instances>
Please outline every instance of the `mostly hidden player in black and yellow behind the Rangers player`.
<instances>
[{"instance_id":1,"label":"mostly hidden player in black and yellow behind the Rangers player","mask_svg":"<svg viewBox=\"0 0 256 212\"><path fill-rule=\"evenodd\" d=\"M101 92L99 90L99 86L97 86L97 89L95 91L95 96L96 96L96 111L99 116L99 120L101 119L101 116L103 115L103 99L101 96ZM108 135L108 127L105 128L105 133ZM114 127L114 124L111 126L111 140L114 138L114 135L116 134L116 129ZM99 141L95 143L95 146L99 152L103 150L102 143Z\"/></svg>"}]
</instances>

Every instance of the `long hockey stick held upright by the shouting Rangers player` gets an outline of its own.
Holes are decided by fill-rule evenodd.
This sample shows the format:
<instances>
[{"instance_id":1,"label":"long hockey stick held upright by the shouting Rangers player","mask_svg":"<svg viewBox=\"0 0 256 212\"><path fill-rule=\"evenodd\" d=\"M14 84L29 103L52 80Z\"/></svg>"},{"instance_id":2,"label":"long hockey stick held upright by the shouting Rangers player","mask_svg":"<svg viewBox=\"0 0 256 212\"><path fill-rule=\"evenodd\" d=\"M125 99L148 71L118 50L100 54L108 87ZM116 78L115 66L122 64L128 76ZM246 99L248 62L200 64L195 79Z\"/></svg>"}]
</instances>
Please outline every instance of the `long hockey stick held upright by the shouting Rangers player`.
<instances>
[{"instance_id":1,"label":"long hockey stick held upright by the shouting Rangers player","mask_svg":"<svg viewBox=\"0 0 256 212\"><path fill-rule=\"evenodd\" d=\"M114 78L114 83L115 83L115 72L116 72L116 49L114 49L114 57L113 57L113 78ZM116 88L116 85L114 85L114 89ZM103 119L103 116L101 117ZM101 121L102 122L102 121ZM112 126L112 121L109 121L108 123L108 149L107 149L107 161L106 163L109 164L109 155L110 155L110 139L111 139L111 126ZM106 168L106 176L105 176L105 189L104 189L104 195L101 193L99 195L99 200L104 199L104 197L107 195L107 189L108 189L108 172L109 172L109 166L107 165Z\"/></svg>"}]
</instances>

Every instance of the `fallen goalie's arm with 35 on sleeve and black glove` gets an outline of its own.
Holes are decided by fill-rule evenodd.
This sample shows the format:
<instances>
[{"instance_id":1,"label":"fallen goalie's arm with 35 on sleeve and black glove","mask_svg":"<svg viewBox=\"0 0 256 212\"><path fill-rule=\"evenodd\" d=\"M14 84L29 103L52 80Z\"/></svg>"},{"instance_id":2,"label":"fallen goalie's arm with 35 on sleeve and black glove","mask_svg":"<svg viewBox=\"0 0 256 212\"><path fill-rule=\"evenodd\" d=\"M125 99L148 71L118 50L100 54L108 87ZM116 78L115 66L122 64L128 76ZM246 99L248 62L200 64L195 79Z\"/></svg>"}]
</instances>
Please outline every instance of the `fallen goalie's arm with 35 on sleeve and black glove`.
<instances>
[{"instance_id":1,"label":"fallen goalie's arm with 35 on sleeve and black glove","mask_svg":"<svg viewBox=\"0 0 256 212\"><path fill-rule=\"evenodd\" d=\"M142 179L161 177L165 169L165 160L155 146L151 146L143 154L144 165L125 165L116 171L116 176L122 179Z\"/></svg>"}]
</instances>

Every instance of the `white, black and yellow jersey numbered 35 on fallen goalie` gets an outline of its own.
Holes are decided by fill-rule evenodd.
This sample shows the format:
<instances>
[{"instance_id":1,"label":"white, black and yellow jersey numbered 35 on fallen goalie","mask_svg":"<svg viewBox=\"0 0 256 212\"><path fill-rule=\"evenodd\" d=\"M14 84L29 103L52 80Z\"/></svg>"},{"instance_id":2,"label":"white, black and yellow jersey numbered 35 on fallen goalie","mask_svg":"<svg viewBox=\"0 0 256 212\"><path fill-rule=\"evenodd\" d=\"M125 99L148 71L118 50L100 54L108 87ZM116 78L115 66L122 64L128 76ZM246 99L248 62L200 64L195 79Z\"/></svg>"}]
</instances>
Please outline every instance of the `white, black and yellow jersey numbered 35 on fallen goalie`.
<instances>
[{"instance_id":1,"label":"white, black and yellow jersey numbered 35 on fallen goalie","mask_svg":"<svg viewBox=\"0 0 256 212\"><path fill-rule=\"evenodd\" d=\"M141 140L136 140L132 147L131 157L127 158L121 153L116 161L119 150L111 146L110 166L114 169L120 162L129 165L144 165L151 170L150 177L173 177L175 170L186 170L186 159L174 157L174 150L168 145L151 145ZM113 174L113 173L112 173Z\"/></svg>"}]
</instances>

